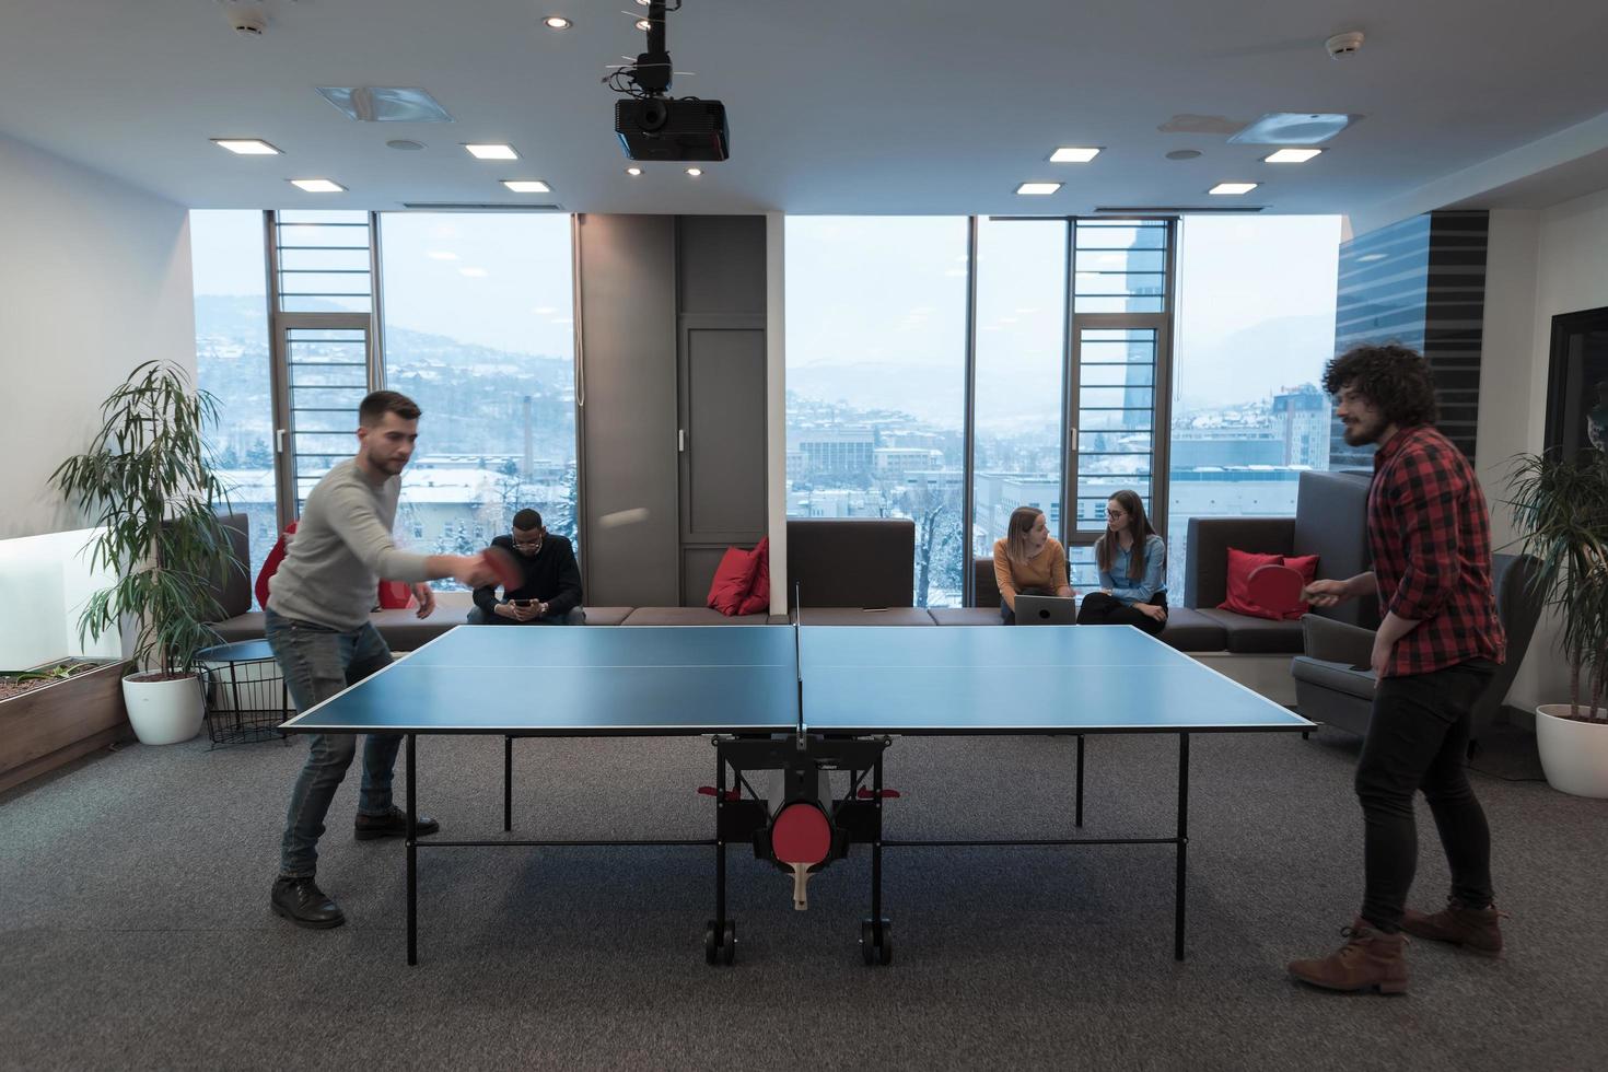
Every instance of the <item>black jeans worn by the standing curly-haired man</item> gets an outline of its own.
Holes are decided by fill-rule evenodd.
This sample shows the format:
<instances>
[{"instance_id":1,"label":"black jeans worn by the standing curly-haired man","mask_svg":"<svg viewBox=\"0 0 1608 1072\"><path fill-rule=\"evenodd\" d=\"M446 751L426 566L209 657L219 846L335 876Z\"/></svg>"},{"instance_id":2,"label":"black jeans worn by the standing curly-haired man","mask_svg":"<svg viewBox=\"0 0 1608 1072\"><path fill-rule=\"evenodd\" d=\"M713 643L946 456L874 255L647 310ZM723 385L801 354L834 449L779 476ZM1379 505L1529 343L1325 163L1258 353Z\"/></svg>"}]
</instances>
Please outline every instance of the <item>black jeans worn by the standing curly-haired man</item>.
<instances>
[{"instance_id":1,"label":"black jeans worn by the standing curly-haired man","mask_svg":"<svg viewBox=\"0 0 1608 1072\"><path fill-rule=\"evenodd\" d=\"M1367 874L1362 918L1386 934L1401 931L1418 866L1418 789L1430 800L1452 868L1452 898L1466 908L1491 903L1491 828L1468 786L1463 759L1475 701L1494 670L1486 661L1460 662L1383 678L1373 693L1373 718L1357 762Z\"/></svg>"}]
</instances>

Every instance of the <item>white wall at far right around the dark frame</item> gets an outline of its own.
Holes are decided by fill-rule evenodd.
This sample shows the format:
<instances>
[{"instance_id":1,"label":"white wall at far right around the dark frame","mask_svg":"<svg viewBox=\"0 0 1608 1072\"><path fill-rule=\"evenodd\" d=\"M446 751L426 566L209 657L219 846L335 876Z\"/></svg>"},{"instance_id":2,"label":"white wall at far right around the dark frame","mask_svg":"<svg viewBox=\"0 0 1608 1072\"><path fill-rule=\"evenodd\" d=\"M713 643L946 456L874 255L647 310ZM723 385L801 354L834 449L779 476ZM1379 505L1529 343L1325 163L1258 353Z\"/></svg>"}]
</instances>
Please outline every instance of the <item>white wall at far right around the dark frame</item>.
<instances>
[{"instance_id":1,"label":"white wall at far right around the dark frame","mask_svg":"<svg viewBox=\"0 0 1608 1072\"><path fill-rule=\"evenodd\" d=\"M1513 538L1500 501L1508 458L1544 445L1552 318L1602 305L1608 305L1608 190L1539 212L1491 212L1476 464L1499 546ZM1529 710L1566 698L1557 630L1547 619L1537 627L1508 704Z\"/></svg>"}]
</instances>

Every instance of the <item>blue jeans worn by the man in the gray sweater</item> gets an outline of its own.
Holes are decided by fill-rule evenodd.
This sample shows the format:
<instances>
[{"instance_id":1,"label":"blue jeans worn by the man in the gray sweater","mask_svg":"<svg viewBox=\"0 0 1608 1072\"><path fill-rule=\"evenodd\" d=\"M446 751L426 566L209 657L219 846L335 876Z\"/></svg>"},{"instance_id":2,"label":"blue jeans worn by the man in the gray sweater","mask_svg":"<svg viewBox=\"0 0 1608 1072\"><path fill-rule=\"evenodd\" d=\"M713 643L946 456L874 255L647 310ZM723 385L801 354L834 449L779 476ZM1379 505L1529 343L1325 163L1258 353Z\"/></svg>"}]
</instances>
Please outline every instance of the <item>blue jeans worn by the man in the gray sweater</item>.
<instances>
[{"instance_id":1,"label":"blue jeans worn by the man in the gray sweater","mask_svg":"<svg viewBox=\"0 0 1608 1072\"><path fill-rule=\"evenodd\" d=\"M297 712L391 665L391 649L371 622L344 633L269 611L265 632ZM363 784L357 797L360 815L391 812L391 773L400 746L399 733L370 733L363 741ZM285 837L280 842L281 876L312 878L318 866L323 816L330 812L330 800L334 799L334 791L346 778L346 768L352 765L355 754L357 734L312 736L307 763L296 778L291 807L285 815Z\"/></svg>"}]
</instances>

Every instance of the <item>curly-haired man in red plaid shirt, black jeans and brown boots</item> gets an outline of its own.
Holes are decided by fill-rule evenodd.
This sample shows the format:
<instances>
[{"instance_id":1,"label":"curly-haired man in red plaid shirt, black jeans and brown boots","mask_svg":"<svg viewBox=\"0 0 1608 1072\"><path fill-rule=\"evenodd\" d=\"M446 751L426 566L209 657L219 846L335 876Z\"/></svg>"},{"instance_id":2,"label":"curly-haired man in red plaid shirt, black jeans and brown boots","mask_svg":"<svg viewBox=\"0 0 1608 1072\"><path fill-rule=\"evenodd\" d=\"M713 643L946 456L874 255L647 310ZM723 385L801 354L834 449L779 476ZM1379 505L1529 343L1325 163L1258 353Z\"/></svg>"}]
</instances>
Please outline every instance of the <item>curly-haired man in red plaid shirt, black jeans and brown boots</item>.
<instances>
[{"instance_id":1,"label":"curly-haired man in red plaid shirt, black jeans and brown boots","mask_svg":"<svg viewBox=\"0 0 1608 1072\"><path fill-rule=\"evenodd\" d=\"M1407 934L1502 951L1491 903L1491 829L1463 771L1475 701L1507 638L1491 588L1491 521L1468 458L1434 429L1434 383L1401 346L1359 346L1330 362L1323 387L1352 447L1378 444L1368 490L1373 571L1317 580L1314 606L1376 596L1373 717L1357 762L1364 818L1362 911L1346 945L1290 974L1330 990L1407 988ZM1418 865L1413 794L1423 789L1452 869L1444 910L1405 906Z\"/></svg>"}]
</instances>

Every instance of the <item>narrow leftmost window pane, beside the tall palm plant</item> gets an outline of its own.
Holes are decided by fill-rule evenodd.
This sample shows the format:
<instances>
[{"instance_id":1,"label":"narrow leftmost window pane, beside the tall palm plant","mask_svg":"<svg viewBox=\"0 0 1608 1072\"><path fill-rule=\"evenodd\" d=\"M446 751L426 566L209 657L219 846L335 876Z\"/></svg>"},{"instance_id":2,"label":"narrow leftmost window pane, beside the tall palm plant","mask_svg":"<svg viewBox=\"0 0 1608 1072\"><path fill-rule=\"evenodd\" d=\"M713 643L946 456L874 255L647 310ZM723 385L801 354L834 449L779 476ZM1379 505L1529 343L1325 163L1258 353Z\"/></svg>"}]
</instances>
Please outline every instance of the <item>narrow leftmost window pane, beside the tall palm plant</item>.
<instances>
[{"instance_id":1,"label":"narrow leftmost window pane, beside the tall palm plant","mask_svg":"<svg viewBox=\"0 0 1608 1072\"><path fill-rule=\"evenodd\" d=\"M222 410L207 439L230 505L249 519L256 577L278 537L262 212L191 212L190 252L196 379Z\"/></svg>"}]
</instances>

